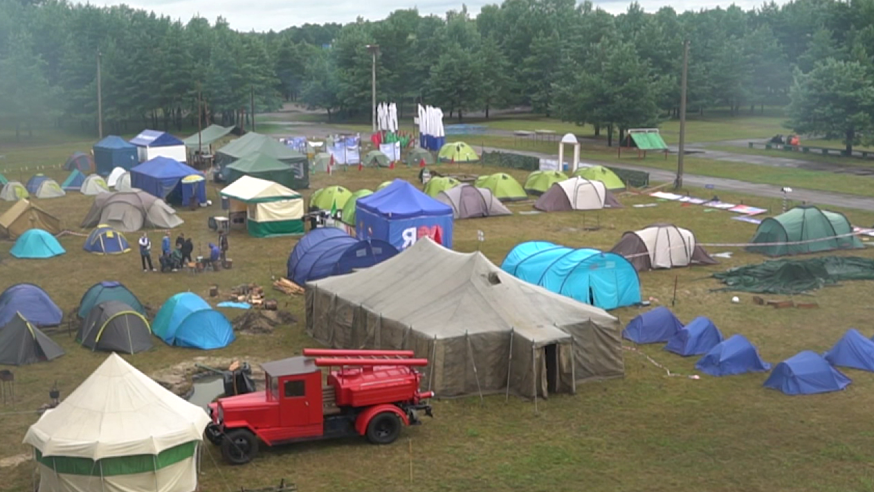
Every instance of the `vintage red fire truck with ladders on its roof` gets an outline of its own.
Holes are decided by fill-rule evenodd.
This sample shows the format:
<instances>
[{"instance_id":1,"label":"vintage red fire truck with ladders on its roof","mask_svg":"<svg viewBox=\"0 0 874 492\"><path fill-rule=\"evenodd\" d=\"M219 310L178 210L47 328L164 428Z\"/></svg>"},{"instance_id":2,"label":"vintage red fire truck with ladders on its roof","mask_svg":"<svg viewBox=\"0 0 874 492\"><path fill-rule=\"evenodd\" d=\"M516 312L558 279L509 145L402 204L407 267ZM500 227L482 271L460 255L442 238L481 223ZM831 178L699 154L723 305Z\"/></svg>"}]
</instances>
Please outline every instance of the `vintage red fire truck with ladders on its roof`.
<instances>
[{"instance_id":1,"label":"vintage red fire truck with ladders on its roof","mask_svg":"<svg viewBox=\"0 0 874 492\"><path fill-rule=\"evenodd\" d=\"M425 400L434 392L419 391L414 369L427 363L412 350L306 349L302 357L262 364L265 391L212 403L205 435L233 465L252 461L259 440L276 446L360 435L390 444L401 426L421 423L419 412L433 417Z\"/></svg>"}]
</instances>

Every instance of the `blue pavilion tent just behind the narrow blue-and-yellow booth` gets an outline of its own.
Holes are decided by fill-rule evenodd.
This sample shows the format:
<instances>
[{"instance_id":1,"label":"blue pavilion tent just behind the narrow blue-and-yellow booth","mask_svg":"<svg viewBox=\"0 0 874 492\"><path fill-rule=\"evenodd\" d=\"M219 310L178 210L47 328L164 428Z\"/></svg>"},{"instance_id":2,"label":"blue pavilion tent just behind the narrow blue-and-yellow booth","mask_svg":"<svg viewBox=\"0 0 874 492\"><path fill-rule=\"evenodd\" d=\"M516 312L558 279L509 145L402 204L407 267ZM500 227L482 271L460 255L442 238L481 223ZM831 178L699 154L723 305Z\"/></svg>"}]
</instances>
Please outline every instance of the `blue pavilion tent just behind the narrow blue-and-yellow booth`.
<instances>
[{"instance_id":1,"label":"blue pavilion tent just behind the narrow blue-and-yellow booth","mask_svg":"<svg viewBox=\"0 0 874 492\"><path fill-rule=\"evenodd\" d=\"M191 199L206 202L206 180L183 186L182 178L203 173L170 157L158 156L130 170L130 185L167 202L187 206Z\"/></svg>"}]
</instances>

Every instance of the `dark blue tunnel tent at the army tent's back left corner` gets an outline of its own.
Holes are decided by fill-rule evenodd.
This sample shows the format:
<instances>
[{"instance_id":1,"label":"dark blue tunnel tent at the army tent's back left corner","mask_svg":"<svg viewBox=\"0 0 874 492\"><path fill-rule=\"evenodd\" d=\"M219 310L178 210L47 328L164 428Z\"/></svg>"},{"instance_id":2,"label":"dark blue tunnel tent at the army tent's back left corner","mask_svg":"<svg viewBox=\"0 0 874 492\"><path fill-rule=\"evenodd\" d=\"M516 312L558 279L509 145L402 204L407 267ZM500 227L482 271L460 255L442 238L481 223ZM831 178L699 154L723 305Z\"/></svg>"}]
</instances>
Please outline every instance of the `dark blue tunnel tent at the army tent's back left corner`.
<instances>
[{"instance_id":1,"label":"dark blue tunnel tent at the army tent's back left corner","mask_svg":"<svg viewBox=\"0 0 874 492\"><path fill-rule=\"evenodd\" d=\"M302 286L308 281L372 267L395 254L398 249L385 241L359 241L339 229L323 227L309 232L288 255L288 280Z\"/></svg>"}]
</instances>

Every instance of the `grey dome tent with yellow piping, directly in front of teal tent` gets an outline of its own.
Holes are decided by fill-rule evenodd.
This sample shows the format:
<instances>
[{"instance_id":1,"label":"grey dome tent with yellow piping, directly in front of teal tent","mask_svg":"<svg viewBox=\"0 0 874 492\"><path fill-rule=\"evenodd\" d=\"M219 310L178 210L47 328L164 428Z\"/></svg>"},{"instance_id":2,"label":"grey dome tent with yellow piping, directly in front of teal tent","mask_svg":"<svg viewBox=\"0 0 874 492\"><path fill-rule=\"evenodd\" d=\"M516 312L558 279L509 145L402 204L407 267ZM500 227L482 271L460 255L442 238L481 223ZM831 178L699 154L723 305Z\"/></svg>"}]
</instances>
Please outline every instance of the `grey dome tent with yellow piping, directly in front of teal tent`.
<instances>
[{"instance_id":1,"label":"grey dome tent with yellow piping, directly in front of teal tent","mask_svg":"<svg viewBox=\"0 0 874 492\"><path fill-rule=\"evenodd\" d=\"M149 322L121 301L103 301L91 308L76 341L91 350L135 354L152 348Z\"/></svg>"}]
</instances>

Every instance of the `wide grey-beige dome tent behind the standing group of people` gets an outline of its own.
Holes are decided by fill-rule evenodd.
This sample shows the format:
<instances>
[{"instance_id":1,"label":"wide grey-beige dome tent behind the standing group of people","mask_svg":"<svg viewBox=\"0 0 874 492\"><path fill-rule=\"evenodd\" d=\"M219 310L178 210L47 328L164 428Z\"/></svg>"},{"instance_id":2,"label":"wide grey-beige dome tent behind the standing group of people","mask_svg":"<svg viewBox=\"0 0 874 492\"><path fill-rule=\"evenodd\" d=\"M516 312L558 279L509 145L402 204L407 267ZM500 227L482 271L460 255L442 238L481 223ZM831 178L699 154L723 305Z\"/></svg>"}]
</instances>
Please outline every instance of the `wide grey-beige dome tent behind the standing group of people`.
<instances>
[{"instance_id":1,"label":"wide grey-beige dome tent behind the standing group of people","mask_svg":"<svg viewBox=\"0 0 874 492\"><path fill-rule=\"evenodd\" d=\"M94 204L82 219L82 228L108 225L116 231L135 232L143 227L172 229L183 223L176 211L161 198L145 191L116 191L94 197Z\"/></svg>"}]
</instances>

